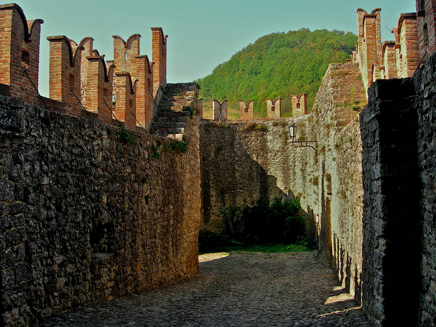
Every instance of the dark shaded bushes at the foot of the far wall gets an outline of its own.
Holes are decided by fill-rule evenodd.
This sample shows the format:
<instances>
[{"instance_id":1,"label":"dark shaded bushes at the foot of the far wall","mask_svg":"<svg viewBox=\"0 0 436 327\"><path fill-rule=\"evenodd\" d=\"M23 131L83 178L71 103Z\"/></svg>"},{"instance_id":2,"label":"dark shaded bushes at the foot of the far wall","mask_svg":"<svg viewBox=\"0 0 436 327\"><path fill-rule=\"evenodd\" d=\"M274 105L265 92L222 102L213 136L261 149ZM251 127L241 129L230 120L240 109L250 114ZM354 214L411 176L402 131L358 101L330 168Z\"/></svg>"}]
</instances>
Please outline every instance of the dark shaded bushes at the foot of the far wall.
<instances>
[{"instance_id":1,"label":"dark shaded bushes at the foot of the far wall","mask_svg":"<svg viewBox=\"0 0 436 327\"><path fill-rule=\"evenodd\" d=\"M232 246L265 244L295 244L313 248L315 240L306 235L300 201L272 203L259 198L252 207L226 206L219 210L222 221L220 233L200 232L199 251L219 251Z\"/></svg>"}]
</instances>

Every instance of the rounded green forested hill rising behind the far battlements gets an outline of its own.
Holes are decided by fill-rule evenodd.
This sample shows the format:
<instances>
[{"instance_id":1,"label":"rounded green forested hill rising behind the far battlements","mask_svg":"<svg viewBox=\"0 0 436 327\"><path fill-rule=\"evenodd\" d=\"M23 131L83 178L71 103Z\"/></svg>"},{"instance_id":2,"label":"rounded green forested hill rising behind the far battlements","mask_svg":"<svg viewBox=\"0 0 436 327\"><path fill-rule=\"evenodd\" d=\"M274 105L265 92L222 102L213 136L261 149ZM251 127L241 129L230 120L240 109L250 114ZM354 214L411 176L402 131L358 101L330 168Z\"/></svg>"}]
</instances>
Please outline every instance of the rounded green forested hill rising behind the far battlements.
<instances>
[{"instance_id":1,"label":"rounded green forested hill rising behind the far battlements","mask_svg":"<svg viewBox=\"0 0 436 327\"><path fill-rule=\"evenodd\" d=\"M265 99L282 98L282 116L291 116L290 95L307 93L310 110L332 62L346 62L355 48L351 32L300 29L272 33L238 51L211 75L198 79L205 118L211 100L228 100L229 118L239 118L239 100L255 100L255 116L266 117Z\"/></svg>"}]
</instances>

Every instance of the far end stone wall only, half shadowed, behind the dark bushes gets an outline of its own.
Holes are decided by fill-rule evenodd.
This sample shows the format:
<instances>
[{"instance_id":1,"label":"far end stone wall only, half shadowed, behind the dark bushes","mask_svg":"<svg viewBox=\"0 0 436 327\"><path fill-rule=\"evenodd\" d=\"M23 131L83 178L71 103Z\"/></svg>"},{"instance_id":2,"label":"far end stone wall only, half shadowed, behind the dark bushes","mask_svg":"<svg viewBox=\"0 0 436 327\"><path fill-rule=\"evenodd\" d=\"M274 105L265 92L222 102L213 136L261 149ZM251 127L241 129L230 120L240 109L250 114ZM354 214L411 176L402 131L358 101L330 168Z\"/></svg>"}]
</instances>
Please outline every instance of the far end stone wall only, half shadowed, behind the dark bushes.
<instances>
[{"instance_id":1,"label":"far end stone wall only, half shadowed, behind the dark bushes","mask_svg":"<svg viewBox=\"0 0 436 327\"><path fill-rule=\"evenodd\" d=\"M306 130L307 117L294 123ZM259 197L301 198L311 215L317 205L313 185L315 151L289 143L284 118L263 123L207 123L200 126L201 217L204 230L219 231L218 210L228 205L253 205ZM309 130L305 131L309 134ZM305 194L303 196L303 194ZM310 225L310 224L308 224ZM312 233L315 235L314 228Z\"/></svg>"}]
</instances>

